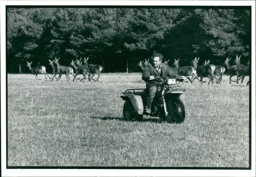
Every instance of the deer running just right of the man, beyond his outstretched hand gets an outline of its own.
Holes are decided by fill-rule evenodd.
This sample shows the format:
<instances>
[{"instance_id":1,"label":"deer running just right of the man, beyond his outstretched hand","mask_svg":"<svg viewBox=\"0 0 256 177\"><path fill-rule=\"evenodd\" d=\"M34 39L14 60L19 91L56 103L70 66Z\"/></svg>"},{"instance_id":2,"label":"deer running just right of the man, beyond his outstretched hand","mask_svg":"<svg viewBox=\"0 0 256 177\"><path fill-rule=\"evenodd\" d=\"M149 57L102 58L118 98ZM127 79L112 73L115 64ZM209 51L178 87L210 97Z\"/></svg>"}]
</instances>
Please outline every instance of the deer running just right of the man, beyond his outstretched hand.
<instances>
[{"instance_id":1,"label":"deer running just right of the man, beyond his outstretched hand","mask_svg":"<svg viewBox=\"0 0 256 177\"><path fill-rule=\"evenodd\" d=\"M193 78L193 76L195 76L197 78L197 80L199 81L195 67L191 67L191 66L179 67L179 60L180 59L176 60L174 58L174 65L178 71L177 74L187 77L188 80L191 82L191 84L192 84L192 81L190 80L190 78L188 76L192 76L191 79ZM200 81L199 81L199 83L200 83Z\"/></svg>"}]
</instances>

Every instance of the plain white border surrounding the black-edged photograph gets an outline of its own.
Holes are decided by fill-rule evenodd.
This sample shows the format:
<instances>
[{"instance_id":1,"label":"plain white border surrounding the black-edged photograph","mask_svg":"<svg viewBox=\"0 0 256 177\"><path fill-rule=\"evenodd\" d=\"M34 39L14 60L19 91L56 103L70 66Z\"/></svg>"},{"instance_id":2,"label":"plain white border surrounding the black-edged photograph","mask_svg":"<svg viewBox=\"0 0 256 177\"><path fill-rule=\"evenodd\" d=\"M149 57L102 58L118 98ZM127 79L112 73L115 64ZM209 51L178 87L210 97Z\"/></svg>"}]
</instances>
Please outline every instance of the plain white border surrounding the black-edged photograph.
<instances>
[{"instance_id":1,"label":"plain white border surrounding the black-edged photograph","mask_svg":"<svg viewBox=\"0 0 256 177\"><path fill-rule=\"evenodd\" d=\"M6 169L6 70L5 70L5 6L6 5L153 5L153 6L252 6L252 170L165 170L165 169ZM9 1L0 0L1 35L1 173L2 176L236 176L256 174L255 151L255 1Z\"/></svg>"}]
</instances>

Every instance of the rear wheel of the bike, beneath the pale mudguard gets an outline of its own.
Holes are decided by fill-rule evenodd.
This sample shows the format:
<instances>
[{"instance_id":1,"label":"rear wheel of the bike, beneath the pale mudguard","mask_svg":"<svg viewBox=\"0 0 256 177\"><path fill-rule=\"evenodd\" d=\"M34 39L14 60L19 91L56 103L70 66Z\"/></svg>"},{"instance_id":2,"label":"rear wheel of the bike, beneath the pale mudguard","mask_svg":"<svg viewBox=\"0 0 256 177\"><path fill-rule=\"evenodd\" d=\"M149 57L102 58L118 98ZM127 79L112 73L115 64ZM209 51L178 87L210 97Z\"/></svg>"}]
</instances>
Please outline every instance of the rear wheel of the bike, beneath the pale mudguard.
<instances>
[{"instance_id":1,"label":"rear wheel of the bike, beneath the pale mudguard","mask_svg":"<svg viewBox=\"0 0 256 177\"><path fill-rule=\"evenodd\" d=\"M138 114L129 100L124 103L123 116L125 121L141 121L143 117L143 115Z\"/></svg>"}]
</instances>

